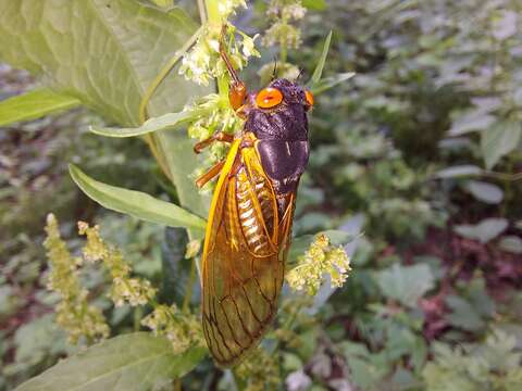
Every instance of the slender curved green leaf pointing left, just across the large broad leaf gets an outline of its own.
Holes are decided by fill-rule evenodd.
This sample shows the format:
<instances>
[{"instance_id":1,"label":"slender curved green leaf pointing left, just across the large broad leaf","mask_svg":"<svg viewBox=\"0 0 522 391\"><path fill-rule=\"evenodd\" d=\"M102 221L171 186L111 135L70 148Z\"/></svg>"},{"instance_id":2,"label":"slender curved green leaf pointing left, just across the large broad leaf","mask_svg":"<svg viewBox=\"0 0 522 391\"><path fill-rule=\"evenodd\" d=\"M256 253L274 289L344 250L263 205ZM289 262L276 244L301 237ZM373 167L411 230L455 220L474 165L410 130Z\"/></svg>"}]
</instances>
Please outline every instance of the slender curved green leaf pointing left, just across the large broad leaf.
<instances>
[{"instance_id":1,"label":"slender curved green leaf pointing left, just across the large broad leaf","mask_svg":"<svg viewBox=\"0 0 522 391\"><path fill-rule=\"evenodd\" d=\"M144 123L139 127L132 128L116 128L116 127L90 127L90 131L96 135L107 137L136 137L142 136L154 131L161 130L174 130L183 125L192 122L202 115L207 114L207 111L182 111L178 113L169 113L159 117L153 117Z\"/></svg>"}]
</instances>

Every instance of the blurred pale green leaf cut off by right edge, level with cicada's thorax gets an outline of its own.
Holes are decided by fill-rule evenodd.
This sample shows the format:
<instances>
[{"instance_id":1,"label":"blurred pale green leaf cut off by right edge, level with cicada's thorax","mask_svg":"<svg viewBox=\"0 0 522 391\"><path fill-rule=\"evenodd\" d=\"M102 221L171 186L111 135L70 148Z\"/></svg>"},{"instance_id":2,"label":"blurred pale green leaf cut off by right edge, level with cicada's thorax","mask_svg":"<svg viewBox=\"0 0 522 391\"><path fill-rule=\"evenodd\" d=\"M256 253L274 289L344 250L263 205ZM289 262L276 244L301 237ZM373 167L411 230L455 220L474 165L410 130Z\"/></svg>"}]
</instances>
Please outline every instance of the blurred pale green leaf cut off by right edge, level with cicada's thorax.
<instances>
[{"instance_id":1,"label":"blurred pale green leaf cut off by right edge, level with cicada's thorax","mask_svg":"<svg viewBox=\"0 0 522 391\"><path fill-rule=\"evenodd\" d=\"M498 122L482 131L481 149L487 169L492 169L502 156L517 149L522 138L519 122Z\"/></svg>"}]
</instances>

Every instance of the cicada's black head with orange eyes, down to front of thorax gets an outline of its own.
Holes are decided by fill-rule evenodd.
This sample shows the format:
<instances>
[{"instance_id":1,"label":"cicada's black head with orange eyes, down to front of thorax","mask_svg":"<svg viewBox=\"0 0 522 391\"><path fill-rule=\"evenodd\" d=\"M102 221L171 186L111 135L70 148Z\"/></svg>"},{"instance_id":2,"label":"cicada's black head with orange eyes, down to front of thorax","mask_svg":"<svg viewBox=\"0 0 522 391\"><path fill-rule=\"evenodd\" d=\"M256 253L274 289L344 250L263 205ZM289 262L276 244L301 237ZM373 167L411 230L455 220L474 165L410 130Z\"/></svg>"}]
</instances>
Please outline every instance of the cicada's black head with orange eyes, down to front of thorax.
<instances>
[{"instance_id":1,"label":"cicada's black head with orange eyes, down to front of thorax","mask_svg":"<svg viewBox=\"0 0 522 391\"><path fill-rule=\"evenodd\" d=\"M287 79L273 80L249 94L245 105L245 130L259 139L308 140L307 112L313 105L311 92Z\"/></svg>"}]
</instances>

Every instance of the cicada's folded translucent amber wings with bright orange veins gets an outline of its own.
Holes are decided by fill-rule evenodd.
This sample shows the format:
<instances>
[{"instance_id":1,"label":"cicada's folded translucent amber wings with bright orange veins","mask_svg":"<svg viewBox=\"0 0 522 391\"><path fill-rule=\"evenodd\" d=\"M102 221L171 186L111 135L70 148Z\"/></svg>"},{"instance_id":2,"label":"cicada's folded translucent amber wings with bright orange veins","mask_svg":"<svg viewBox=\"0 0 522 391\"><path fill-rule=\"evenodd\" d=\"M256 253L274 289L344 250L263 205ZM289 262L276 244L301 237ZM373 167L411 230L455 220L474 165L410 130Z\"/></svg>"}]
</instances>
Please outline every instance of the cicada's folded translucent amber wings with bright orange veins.
<instances>
[{"instance_id":1,"label":"cicada's folded translucent amber wings with bright orange veins","mask_svg":"<svg viewBox=\"0 0 522 391\"><path fill-rule=\"evenodd\" d=\"M276 194L254 148L234 141L211 204L202 263L202 324L216 363L236 365L277 312L294 213Z\"/></svg>"}]
</instances>

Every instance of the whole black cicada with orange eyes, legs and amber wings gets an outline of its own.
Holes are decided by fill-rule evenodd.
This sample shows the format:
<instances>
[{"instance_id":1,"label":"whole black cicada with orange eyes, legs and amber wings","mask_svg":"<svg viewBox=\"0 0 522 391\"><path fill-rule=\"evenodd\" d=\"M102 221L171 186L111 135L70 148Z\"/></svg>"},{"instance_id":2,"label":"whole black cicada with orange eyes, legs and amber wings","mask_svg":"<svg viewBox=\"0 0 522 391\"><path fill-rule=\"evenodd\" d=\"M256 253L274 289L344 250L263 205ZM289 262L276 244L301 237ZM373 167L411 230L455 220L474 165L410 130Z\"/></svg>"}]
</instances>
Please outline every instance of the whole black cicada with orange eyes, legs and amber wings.
<instances>
[{"instance_id":1,"label":"whole black cicada with orange eyes, legs and amber wings","mask_svg":"<svg viewBox=\"0 0 522 391\"><path fill-rule=\"evenodd\" d=\"M231 143L226 159L198 180L219 175L202 253L202 326L217 365L238 364L270 327L283 285L299 178L309 157L307 112L313 96L278 78L257 93L231 75L229 102L243 131L223 131L195 146Z\"/></svg>"}]
</instances>

